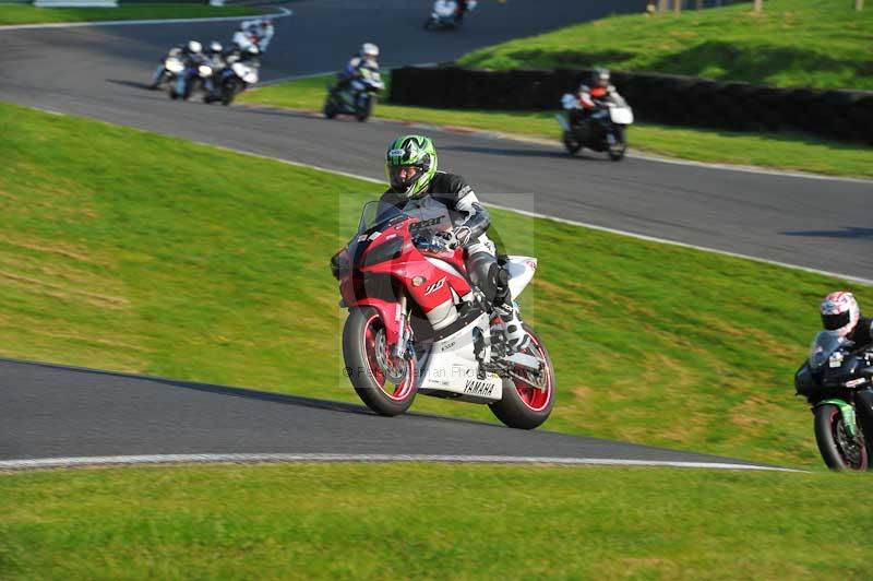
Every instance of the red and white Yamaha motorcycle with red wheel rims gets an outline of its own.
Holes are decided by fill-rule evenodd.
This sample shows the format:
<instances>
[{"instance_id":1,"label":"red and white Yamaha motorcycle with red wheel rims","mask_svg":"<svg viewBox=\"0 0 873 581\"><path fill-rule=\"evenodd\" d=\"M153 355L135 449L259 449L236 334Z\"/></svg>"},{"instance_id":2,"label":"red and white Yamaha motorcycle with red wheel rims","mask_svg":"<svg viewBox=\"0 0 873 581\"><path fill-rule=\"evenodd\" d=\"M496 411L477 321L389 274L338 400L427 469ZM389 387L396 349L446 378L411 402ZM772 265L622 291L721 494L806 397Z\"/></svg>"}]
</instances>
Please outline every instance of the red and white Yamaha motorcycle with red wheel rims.
<instances>
[{"instance_id":1,"label":"red and white Yamaha motorcycle with red wheel rims","mask_svg":"<svg viewBox=\"0 0 873 581\"><path fill-rule=\"evenodd\" d=\"M447 213L407 212L369 202L355 237L331 259L349 311L343 357L355 391L385 416L404 413L421 393L488 404L510 427L539 426L555 387L542 340L525 324L528 346L511 353L500 317L470 285L464 250L438 235L451 228ZM517 297L537 260L511 256L504 265Z\"/></svg>"}]
</instances>

